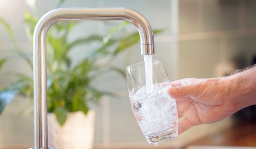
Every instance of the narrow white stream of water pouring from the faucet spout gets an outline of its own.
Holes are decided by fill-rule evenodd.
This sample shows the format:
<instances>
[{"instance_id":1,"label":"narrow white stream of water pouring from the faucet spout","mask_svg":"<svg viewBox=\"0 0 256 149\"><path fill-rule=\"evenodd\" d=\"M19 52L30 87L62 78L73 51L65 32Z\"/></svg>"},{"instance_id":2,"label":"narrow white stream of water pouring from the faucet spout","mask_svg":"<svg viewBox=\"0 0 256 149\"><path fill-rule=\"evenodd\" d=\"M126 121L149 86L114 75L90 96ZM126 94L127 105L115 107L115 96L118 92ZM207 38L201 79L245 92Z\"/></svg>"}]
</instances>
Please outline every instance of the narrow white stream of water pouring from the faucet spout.
<instances>
[{"instance_id":1,"label":"narrow white stream of water pouring from the faucet spout","mask_svg":"<svg viewBox=\"0 0 256 149\"><path fill-rule=\"evenodd\" d=\"M152 59L153 59L152 55L144 55L146 86L147 86L148 94L150 94L153 90Z\"/></svg>"}]
</instances>

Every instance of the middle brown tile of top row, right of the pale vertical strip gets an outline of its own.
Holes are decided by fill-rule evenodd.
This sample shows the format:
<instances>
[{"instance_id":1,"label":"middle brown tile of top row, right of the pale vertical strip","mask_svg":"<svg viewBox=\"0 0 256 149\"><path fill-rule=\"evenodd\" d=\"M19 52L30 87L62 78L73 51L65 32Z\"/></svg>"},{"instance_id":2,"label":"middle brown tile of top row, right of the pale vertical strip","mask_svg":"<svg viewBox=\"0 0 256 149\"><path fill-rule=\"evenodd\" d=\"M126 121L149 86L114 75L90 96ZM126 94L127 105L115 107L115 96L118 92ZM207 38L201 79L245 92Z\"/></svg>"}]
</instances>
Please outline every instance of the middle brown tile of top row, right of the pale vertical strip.
<instances>
[{"instance_id":1,"label":"middle brown tile of top row, right of the pale vertical strip","mask_svg":"<svg viewBox=\"0 0 256 149\"><path fill-rule=\"evenodd\" d=\"M238 0L204 0L205 31L238 28Z\"/></svg>"}]
</instances>

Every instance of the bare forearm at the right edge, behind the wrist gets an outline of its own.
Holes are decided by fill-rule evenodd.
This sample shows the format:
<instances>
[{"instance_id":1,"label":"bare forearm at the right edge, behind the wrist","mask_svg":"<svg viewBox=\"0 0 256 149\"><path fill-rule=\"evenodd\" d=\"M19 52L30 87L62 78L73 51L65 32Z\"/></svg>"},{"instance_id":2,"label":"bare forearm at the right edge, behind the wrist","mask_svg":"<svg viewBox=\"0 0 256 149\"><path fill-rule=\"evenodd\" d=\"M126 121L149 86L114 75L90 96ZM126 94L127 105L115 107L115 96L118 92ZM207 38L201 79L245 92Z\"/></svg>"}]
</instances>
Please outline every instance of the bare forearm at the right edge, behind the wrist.
<instances>
[{"instance_id":1,"label":"bare forearm at the right edge, behind the wrist","mask_svg":"<svg viewBox=\"0 0 256 149\"><path fill-rule=\"evenodd\" d=\"M256 104L256 67L229 76L231 98L237 110Z\"/></svg>"}]
</instances>

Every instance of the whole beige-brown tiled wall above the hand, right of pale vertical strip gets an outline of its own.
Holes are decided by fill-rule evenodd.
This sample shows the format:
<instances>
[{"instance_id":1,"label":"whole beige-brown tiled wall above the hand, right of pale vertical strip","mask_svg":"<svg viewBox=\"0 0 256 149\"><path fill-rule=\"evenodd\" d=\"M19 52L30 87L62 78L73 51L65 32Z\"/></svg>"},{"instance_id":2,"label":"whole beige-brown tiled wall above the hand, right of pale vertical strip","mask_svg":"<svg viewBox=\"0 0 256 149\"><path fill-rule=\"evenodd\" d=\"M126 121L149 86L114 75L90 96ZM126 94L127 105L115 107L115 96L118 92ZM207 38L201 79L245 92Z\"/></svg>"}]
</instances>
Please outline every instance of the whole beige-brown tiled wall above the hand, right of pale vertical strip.
<instances>
[{"instance_id":1,"label":"whole beige-brown tiled wall above the hand, right of pale vertical strip","mask_svg":"<svg viewBox=\"0 0 256 149\"><path fill-rule=\"evenodd\" d=\"M256 54L255 0L179 2L178 78L216 77L216 66L234 59L250 65Z\"/></svg>"}]
</instances>

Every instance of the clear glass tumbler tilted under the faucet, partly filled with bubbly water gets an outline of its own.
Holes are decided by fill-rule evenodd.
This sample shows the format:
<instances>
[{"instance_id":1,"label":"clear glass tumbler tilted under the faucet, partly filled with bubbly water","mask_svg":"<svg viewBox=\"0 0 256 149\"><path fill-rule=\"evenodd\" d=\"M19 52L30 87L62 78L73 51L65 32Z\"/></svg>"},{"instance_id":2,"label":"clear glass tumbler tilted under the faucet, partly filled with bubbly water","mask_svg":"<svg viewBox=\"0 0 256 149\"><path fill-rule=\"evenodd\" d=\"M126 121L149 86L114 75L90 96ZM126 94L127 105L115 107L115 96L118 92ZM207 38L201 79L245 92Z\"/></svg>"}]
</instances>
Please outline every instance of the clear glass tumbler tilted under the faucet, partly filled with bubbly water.
<instances>
[{"instance_id":1,"label":"clear glass tumbler tilted under the faucet, partly filled with bubbly water","mask_svg":"<svg viewBox=\"0 0 256 149\"><path fill-rule=\"evenodd\" d=\"M148 94L145 64L140 62L126 68L126 79L134 116L148 143L170 140L178 135L177 107L167 89L170 81L160 60L153 60L153 91Z\"/></svg>"}]
</instances>

